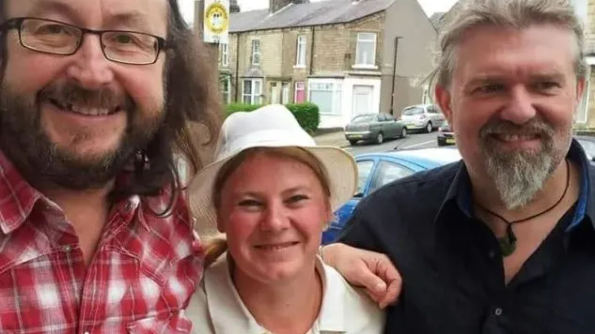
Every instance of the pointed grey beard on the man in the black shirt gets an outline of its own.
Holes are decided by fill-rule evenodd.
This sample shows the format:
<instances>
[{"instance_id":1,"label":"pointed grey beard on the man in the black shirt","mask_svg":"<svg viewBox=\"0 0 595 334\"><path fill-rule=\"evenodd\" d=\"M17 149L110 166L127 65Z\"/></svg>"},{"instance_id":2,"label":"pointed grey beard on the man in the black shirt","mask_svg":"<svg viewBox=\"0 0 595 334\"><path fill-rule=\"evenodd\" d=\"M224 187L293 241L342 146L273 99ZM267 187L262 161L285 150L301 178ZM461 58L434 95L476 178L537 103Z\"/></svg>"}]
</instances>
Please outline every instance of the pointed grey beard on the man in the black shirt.
<instances>
[{"instance_id":1,"label":"pointed grey beard on the man in the black shirt","mask_svg":"<svg viewBox=\"0 0 595 334\"><path fill-rule=\"evenodd\" d=\"M531 203L556 168L547 148L539 153L492 153L484 157L487 173L508 210Z\"/></svg>"}]
</instances>

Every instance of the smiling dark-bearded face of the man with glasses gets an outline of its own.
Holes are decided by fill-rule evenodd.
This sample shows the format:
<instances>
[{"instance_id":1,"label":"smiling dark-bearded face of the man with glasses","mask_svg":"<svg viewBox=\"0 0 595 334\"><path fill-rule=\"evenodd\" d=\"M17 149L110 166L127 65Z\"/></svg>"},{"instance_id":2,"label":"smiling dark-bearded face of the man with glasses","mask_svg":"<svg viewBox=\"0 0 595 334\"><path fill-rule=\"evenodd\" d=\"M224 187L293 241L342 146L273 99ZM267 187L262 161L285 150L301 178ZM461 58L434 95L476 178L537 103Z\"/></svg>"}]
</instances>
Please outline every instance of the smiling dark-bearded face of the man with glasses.
<instances>
[{"instance_id":1,"label":"smiling dark-bearded face of the man with glasses","mask_svg":"<svg viewBox=\"0 0 595 334\"><path fill-rule=\"evenodd\" d=\"M167 37L166 0L8 0L6 9L9 19ZM118 64L105 58L99 36L86 34L74 55L49 55L21 46L12 29L6 54L2 149L46 181L101 187L148 143L164 116L164 53L151 65Z\"/></svg>"}]
</instances>

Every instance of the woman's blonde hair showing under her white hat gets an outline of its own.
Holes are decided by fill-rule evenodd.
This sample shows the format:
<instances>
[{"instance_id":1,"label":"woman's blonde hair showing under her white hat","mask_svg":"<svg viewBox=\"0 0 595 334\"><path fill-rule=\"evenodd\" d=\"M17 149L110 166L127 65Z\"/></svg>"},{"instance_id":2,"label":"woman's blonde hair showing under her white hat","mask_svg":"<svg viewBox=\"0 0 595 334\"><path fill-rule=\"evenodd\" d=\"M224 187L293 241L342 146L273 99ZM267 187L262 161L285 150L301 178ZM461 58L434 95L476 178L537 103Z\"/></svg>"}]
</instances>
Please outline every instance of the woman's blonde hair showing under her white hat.
<instances>
[{"instance_id":1,"label":"woman's blonde hair showing under her white hat","mask_svg":"<svg viewBox=\"0 0 595 334\"><path fill-rule=\"evenodd\" d=\"M215 209L219 210L221 207L221 190L227 180L231 177L243 162L255 155L264 154L268 156L281 157L293 159L297 162L308 166L316 175L322 191L324 191L327 206L330 208L330 181L328 173L324 165L318 160L316 156L308 152L308 150L300 147L254 147L252 149L244 150L238 155L234 156L227 163L225 163L215 177L213 184L213 204ZM225 234L208 235L204 240L205 244L205 268L217 261L221 255L227 251L227 239Z\"/></svg>"}]
</instances>

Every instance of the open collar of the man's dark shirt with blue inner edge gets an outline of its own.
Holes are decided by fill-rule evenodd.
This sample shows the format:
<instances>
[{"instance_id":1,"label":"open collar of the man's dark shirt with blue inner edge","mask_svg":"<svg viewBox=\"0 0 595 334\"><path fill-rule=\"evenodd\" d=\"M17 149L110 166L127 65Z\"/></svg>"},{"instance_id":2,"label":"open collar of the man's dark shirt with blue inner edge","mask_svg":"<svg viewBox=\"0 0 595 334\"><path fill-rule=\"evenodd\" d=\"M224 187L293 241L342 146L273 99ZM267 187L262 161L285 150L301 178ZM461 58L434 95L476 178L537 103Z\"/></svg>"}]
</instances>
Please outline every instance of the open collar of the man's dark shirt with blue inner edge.
<instances>
[{"instance_id":1,"label":"open collar of the man's dark shirt with blue inner edge","mask_svg":"<svg viewBox=\"0 0 595 334\"><path fill-rule=\"evenodd\" d=\"M591 222L595 224L595 203L593 198L595 196L591 184L595 182L595 173L590 172L591 166L584 153L583 148L578 141L572 140L568 155L568 159L577 162L581 168L581 185L580 193L577 202L577 210L572 219L571 225L566 230L571 231L578 226L585 218L590 218ZM444 207L455 203L459 210L468 218L473 218L473 199L471 193L471 180L464 162L460 162L459 170L456 172L455 178L450 184L446 197L440 207L435 221L438 220Z\"/></svg>"}]
</instances>

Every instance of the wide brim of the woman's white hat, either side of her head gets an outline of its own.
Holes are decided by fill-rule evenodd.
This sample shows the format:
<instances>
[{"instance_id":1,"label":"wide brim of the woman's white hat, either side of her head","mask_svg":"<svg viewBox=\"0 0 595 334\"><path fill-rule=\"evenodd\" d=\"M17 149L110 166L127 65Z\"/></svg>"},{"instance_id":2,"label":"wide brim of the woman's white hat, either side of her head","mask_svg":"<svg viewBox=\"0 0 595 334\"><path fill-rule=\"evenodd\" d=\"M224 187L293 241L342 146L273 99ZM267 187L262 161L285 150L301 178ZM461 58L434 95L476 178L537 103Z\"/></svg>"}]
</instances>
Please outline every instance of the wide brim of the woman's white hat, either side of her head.
<instances>
[{"instance_id":1,"label":"wide brim of the woman's white hat, either side of her head","mask_svg":"<svg viewBox=\"0 0 595 334\"><path fill-rule=\"evenodd\" d=\"M338 147L300 146L300 148L312 153L325 167L331 193L330 204L334 212L355 194L358 182L358 169L355 160L349 153ZM188 202L190 212L197 221L196 229L198 231L212 231L217 228L217 212L212 201L215 177L217 177L221 167L236 156L237 153L211 163L190 181Z\"/></svg>"}]
</instances>

